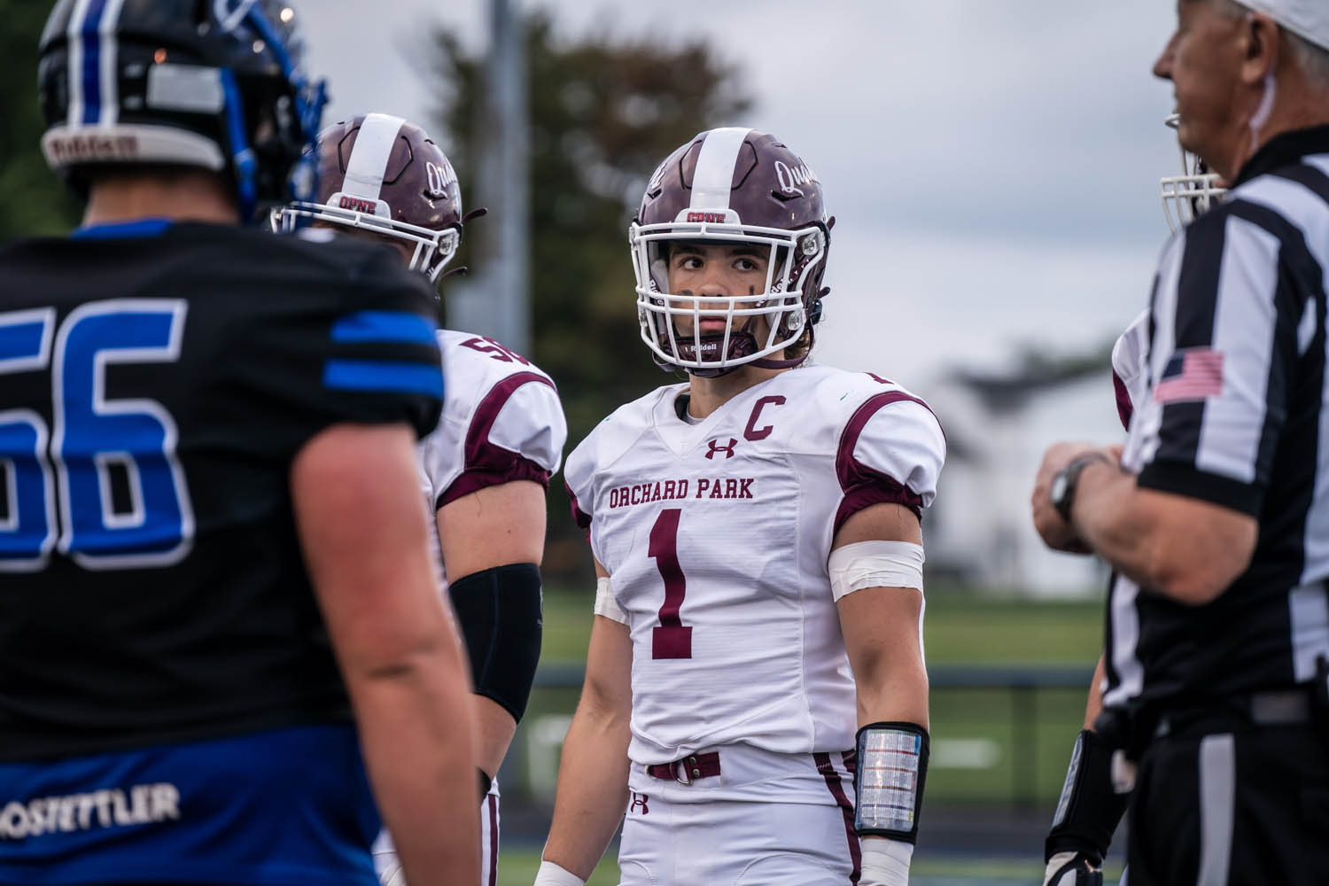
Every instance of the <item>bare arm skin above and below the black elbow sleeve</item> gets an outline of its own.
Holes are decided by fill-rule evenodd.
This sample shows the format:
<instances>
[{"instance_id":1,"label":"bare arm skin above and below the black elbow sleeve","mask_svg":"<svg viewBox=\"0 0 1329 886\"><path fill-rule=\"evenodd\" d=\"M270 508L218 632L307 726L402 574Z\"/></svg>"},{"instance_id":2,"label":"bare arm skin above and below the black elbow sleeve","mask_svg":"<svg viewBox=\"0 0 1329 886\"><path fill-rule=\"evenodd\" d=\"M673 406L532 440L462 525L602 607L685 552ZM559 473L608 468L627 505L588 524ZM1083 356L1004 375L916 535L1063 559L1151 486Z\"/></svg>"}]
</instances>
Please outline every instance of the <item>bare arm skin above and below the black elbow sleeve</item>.
<instances>
[{"instance_id":1,"label":"bare arm skin above and below the black elbow sleeve","mask_svg":"<svg viewBox=\"0 0 1329 886\"><path fill-rule=\"evenodd\" d=\"M485 486L440 507L437 519L451 584L497 566L532 563L538 567L544 557L545 490L534 481ZM538 631L538 626L534 630ZM529 691L529 681L526 688ZM476 717L476 765L493 778L512 744L517 719L478 692L470 701Z\"/></svg>"}]
</instances>

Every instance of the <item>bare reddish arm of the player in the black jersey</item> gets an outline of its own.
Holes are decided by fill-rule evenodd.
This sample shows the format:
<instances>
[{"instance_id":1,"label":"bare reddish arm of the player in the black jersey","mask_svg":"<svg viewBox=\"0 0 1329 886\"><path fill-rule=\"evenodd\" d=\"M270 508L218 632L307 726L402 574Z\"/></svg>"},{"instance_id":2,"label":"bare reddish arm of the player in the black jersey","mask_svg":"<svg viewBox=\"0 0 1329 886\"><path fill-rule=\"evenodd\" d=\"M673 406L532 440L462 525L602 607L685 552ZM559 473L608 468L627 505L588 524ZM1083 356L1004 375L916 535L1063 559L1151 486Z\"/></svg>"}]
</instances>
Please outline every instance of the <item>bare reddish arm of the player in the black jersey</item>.
<instances>
[{"instance_id":1,"label":"bare reddish arm of the player in the black jersey","mask_svg":"<svg viewBox=\"0 0 1329 886\"><path fill-rule=\"evenodd\" d=\"M412 886L473 883L468 673L429 562L405 425L335 425L291 466L300 545L369 781Z\"/></svg>"}]
</instances>

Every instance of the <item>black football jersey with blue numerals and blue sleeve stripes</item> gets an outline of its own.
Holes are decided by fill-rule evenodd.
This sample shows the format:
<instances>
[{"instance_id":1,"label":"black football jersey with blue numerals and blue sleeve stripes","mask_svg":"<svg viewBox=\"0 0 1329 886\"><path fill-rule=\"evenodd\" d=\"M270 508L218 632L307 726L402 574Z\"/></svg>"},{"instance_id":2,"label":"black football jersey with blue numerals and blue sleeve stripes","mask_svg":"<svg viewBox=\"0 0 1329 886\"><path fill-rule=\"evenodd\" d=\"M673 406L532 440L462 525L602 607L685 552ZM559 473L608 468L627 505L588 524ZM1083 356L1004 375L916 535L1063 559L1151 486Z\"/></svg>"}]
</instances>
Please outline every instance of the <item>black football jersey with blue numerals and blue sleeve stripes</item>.
<instances>
[{"instance_id":1,"label":"black football jersey with blue numerals and blue sleeve stripes","mask_svg":"<svg viewBox=\"0 0 1329 886\"><path fill-rule=\"evenodd\" d=\"M389 250L137 232L0 248L0 760L347 717L291 462L439 417Z\"/></svg>"}]
</instances>

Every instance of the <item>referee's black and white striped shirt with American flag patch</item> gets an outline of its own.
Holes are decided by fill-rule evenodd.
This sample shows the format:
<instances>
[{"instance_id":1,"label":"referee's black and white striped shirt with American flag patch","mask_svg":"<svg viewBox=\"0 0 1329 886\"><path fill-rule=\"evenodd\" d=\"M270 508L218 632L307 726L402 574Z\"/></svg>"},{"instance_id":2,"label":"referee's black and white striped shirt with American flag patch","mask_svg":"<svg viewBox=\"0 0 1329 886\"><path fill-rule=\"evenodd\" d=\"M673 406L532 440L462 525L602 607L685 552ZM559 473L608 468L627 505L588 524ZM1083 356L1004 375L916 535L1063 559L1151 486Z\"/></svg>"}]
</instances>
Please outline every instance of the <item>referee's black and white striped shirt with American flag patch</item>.
<instances>
[{"instance_id":1,"label":"referee's black and white striped shirt with American flag patch","mask_svg":"<svg viewBox=\"0 0 1329 886\"><path fill-rule=\"evenodd\" d=\"M1329 126L1272 139L1164 248L1123 462L1142 489L1251 514L1260 533L1203 607L1114 576L1106 705L1289 687L1329 655L1326 270Z\"/></svg>"}]
</instances>

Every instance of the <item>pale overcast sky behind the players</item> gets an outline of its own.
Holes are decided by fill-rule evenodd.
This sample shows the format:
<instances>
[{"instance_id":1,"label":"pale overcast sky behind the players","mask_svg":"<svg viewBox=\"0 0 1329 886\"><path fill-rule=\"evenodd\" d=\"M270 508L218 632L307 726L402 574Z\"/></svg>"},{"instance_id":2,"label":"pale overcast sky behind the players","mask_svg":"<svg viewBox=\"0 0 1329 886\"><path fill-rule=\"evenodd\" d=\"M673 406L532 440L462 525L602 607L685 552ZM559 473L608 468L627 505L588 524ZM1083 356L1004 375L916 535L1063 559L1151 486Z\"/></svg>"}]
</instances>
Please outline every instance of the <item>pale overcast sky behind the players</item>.
<instances>
[{"instance_id":1,"label":"pale overcast sky behind the players","mask_svg":"<svg viewBox=\"0 0 1329 886\"><path fill-rule=\"evenodd\" d=\"M526 0L563 35L704 35L837 218L819 359L925 387L1021 343L1071 352L1144 304L1175 174L1159 0ZM428 33L486 43L484 0L304 0L330 120L429 120ZM445 133L439 133L447 141ZM469 170L459 170L462 178ZM623 262L629 260L627 247ZM536 268L534 272L549 272ZM553 270L557 272L557 268ZM625 291L625 299L633 292Z\"/></svg>"}]
</instances>

